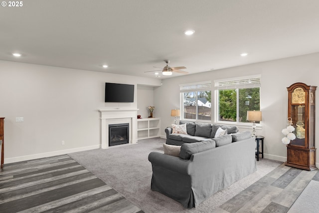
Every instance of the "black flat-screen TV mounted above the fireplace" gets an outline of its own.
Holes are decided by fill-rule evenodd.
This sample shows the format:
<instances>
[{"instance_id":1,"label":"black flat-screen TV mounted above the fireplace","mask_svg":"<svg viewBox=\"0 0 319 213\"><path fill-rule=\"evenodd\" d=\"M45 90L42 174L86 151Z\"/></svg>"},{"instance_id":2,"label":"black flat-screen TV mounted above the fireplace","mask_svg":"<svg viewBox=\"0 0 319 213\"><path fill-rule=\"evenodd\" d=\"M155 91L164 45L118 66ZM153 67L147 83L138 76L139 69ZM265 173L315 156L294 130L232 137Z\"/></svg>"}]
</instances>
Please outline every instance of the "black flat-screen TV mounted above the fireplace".
<instances>
[{"instance_id":1,"label":"black flat-screen TV mounted above the fireplace","mask_svg":"<svg viewBox=\"0 0 319 213\"><path fill-rule=\"evenodd\" d=\"M134 85L105 83L105 102L134 102Z\"/></svg>"}]
</instances>

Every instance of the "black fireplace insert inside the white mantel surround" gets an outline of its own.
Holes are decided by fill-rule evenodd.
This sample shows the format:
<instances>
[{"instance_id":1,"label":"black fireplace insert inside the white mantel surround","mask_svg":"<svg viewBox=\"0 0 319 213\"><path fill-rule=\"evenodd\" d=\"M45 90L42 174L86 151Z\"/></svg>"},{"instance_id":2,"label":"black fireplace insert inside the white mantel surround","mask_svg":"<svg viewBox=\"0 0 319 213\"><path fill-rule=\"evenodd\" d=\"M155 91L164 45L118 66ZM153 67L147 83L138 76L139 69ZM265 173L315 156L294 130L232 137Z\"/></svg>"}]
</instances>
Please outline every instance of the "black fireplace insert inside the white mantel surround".
<instances>
[{"instance_id":1,"label":"black fireplace insert inside the white mantel surround","mask_svg":"<svg viewBox=\"0 0 319 213\"><path fill-rule=\"evenodd\" d=\"M129 143L129 123L109 124L109 146Z\"/></svg>"}]
</instances>

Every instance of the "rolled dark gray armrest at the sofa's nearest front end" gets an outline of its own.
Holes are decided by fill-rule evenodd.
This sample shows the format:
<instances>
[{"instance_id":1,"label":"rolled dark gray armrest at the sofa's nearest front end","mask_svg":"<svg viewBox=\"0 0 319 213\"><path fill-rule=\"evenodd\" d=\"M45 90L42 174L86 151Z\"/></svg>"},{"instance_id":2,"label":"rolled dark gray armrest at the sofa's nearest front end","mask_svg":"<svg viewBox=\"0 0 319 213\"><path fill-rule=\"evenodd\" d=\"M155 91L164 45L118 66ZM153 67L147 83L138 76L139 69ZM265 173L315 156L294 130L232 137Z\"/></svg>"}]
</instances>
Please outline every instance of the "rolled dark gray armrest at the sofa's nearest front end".
<instances>
[{"instance_id":1,"label":"rolled dark gray armrest at the sofa's nearest front end","mask_svg":"<svg viewBox=\"0 0 319 213\"><path fill-rule=\"evenodd\" d=\"M164 170L189 175L190 160L183 160L160 152L151 152L149 154L149 161L152 163L152 167L161 167Z\"/></svg>"}]
</instances>

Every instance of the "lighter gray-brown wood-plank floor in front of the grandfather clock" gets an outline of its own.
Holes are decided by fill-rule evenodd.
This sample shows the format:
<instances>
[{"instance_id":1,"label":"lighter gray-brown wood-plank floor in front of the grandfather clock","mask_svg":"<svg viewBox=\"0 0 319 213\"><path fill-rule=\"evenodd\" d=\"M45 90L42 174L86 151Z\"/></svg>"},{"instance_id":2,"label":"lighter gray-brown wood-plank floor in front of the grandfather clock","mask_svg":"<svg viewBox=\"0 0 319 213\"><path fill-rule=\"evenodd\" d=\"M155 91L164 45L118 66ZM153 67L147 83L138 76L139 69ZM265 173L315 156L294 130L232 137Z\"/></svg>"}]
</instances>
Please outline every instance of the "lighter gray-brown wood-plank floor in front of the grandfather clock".
<instances>
[{"instance_id":1,"label":"lighter gray-brown wood-plank floor in front of the grandfather clock","mask_svg":"<svg viewBox=\"0 0 319 213\"><path fill-rule=\"evenodd\" d=\"M282 164L214 213L287 213L311 180L319 181L318 170L310 172Z\"/></svg>"}]
</instances>

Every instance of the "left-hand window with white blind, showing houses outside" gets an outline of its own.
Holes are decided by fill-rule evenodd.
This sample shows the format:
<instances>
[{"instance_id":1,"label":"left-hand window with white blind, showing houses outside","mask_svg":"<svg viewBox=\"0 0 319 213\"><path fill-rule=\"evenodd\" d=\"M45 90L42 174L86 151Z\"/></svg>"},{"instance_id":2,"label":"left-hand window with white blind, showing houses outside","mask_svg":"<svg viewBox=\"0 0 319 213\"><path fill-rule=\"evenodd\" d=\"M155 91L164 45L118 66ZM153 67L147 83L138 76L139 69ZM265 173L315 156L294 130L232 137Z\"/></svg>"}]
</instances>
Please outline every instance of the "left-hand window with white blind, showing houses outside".
<instances>
[{"instance_id":1,"label":"left-hand window with white blind, showing houses outside","mask_svg":"<svg viewBox=\"0 0 319 213\"><path fill-rule=\"evenodd\" d=\"M211 121L211 82L180 85L182 119Z\"/></svg>"}]
</instances>

